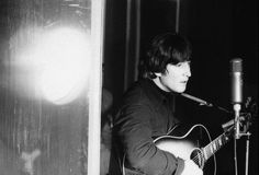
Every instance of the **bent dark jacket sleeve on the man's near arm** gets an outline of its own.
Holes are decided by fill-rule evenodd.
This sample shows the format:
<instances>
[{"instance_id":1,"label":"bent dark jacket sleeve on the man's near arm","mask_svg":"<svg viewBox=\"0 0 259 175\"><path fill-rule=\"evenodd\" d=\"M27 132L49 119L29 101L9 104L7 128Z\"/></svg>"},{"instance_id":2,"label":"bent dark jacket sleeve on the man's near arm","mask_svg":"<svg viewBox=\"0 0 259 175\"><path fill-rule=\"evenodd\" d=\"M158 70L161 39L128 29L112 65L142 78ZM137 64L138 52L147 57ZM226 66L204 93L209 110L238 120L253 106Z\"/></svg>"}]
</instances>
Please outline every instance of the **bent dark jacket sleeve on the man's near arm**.
<instances>
[{"instance_id":1,"label":"bent dark jacket sleeve on the man's near arm","mask_svg":"<svg viewBox=\"0 0 259 175\"><path fill-rule=\"evenodd\" d=\"M127 164L148 175L172 175L183 167L183 161L158 149L151 138L151 110L145 105L124 107L114 127L123 144Z\"/></svg>"}]
</instances>

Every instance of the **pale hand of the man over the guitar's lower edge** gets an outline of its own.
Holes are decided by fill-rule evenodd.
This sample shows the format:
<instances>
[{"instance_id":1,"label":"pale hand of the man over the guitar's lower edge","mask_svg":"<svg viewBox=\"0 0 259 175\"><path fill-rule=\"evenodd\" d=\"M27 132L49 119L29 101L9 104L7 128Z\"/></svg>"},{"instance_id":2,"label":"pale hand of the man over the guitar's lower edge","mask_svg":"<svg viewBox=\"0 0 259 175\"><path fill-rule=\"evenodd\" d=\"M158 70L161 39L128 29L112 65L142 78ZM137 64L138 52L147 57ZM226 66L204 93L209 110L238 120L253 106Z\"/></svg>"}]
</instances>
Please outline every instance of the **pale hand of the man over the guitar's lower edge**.
<instances>
[{"instance_id":1,"label":"pale hand of the man over the guitar's lower edge","mask_svg":"<svg viewBox=\"0 0 259 175\"><path fill-rule=\"evenodd\" d=\"M181 175L203 175L203 171L192 160L187 160Z\"/></svg>"}]
</instances>

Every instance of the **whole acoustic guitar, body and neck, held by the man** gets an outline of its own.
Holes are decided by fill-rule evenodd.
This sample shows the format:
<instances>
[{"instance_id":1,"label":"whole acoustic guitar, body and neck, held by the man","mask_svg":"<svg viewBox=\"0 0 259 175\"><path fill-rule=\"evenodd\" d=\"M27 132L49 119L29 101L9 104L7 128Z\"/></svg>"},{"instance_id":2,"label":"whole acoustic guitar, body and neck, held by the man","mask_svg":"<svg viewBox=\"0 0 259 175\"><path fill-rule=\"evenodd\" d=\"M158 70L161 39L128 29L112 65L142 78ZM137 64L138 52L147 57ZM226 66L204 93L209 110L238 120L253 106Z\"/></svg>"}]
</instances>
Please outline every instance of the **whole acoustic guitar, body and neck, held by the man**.
<instances>
[{"instance_id":1,"label":"whole acoustic guitar, body and neck, held by the man","mask_svg":"<svg viewBox=\"0 0 259 175\"><path fill-rule=\"evenodd\" d=\"M178 126L171 130L170 135L154 139L154 143L160 150L170 152L177 158L192 160L203 170L204 175L212 175L216 171L216 162L215 159L210 158L230 140L234 128L229 127L212 141L207 129L203 125ZM126 173L123 172L123 175L126 175Z\"/></svg>"}]
</instances>

